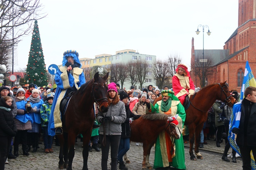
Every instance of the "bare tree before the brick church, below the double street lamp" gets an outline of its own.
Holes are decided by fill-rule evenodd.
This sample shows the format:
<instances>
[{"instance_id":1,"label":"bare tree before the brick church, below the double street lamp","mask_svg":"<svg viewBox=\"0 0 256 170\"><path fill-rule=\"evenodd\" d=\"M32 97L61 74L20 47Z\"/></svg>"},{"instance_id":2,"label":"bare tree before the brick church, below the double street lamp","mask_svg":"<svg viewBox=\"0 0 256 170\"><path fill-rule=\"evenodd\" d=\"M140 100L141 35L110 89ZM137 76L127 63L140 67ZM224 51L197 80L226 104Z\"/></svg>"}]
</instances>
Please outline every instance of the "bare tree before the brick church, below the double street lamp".
<instances>
[{"instance_id":1,"label":"bare tree before the brick church, below the double street lamp","mask_svg":"<svg viewBox=\"0 0 256 170\"><path fill-rule=\"evenodd\" d=\"M210 56L204 56L204 59L207 59L207 62L203 63L199 62L199 59L202 58L202 56L197 56L195 58L195 61L193 61L191 65L191 70L195 73L195 75L199 78L200 80L200 85L203 87L203 70L204 70L204 79L208 76L212 75L213 72L213 60L212 57ZM204 69L203 69L204 68Z\"/></svg>"}]
</instances>

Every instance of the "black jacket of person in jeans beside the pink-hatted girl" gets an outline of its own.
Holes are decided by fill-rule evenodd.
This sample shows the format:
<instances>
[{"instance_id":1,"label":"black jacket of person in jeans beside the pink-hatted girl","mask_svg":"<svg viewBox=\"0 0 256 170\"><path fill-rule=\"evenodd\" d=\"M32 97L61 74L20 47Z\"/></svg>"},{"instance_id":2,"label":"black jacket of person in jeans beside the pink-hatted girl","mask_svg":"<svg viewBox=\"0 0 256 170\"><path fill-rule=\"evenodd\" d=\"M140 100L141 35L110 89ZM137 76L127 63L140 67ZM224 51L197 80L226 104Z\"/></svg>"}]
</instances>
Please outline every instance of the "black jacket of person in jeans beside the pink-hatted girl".
<instances>
[{"instance_id":1,"label":"black jacket of person in jeans beside the pink-hatted girl","mask_svg":"<svg viewBox=\"0 0 256 170\"><path fill-rule=\"evenodd\" d=\"M125 122L121 124L122 126L122 138L131 137L131 128L130 128L130 118L133 118L135 115L131 112L129 105L125 105L126 119Z\"/></svg>"}]
</instances>

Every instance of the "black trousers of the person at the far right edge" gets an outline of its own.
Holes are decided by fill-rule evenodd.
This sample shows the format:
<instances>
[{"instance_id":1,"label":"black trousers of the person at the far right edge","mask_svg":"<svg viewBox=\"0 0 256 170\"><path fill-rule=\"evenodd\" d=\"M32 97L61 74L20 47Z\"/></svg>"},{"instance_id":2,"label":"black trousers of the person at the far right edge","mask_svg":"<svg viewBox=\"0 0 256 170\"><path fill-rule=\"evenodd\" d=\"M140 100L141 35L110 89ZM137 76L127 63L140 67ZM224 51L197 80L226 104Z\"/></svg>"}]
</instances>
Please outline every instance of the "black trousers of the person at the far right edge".
<instances>
[{"instance_id":1,"label":"black trousers of the person at the far right edge","mask_svg":"<svg viewBox=\"0 0 256 170\"><path fill-rule=\"evenodd\" d=\"M254 160L256 160L256 147L247 146L247 137L244 137L244 146L239 146L242 160L243 170L251 170L251 151L253 152Z\"/></svg>"}]
</instances>

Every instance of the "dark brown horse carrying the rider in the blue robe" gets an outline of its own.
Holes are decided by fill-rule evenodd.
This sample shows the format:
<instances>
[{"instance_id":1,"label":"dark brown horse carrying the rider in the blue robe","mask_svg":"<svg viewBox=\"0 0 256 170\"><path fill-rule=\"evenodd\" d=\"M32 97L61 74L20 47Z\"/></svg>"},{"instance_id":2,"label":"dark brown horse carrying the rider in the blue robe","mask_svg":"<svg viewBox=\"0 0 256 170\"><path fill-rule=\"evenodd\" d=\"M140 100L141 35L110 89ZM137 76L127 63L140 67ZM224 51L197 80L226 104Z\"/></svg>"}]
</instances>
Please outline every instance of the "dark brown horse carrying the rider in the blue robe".
<instances>
[{"instance_id":1,"label":"dark brown horse carrying the rider in the blue robe","mask_svg":"<svg viewBox=\"0 0 256 170\"><path fill-rule=\"evenodd\" d=\"M107 73L103 78L99 73L95 73L94 79L83 84L69 100L64 121L62 120L63 135L58 135L60 140L59 169L72 169L74 158L75 138L78 134L83 135L83 170L88 170L88 143L91 138L91 131L95 120L94 102L100 112L108 111L106 80L109 77ZM64 156L64 161L63 161Z\"/></svg>"}]
</instances>

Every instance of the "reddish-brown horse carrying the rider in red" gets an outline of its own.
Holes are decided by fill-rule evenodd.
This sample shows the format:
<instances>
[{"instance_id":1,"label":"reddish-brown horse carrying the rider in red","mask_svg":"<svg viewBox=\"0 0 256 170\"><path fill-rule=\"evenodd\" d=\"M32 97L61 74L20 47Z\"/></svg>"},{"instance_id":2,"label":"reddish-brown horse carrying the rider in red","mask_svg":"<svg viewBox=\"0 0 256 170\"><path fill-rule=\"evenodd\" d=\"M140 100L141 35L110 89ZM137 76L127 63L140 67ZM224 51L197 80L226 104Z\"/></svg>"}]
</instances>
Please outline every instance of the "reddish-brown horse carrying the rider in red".
<instances>
[{"instance_id":1,"label":"reddish-brown horse carrying the rider in red","mask_svg":"<svg viewBox=\"0 0 256 170\"><path fill-rule=\"evenodd\" d=\"M212 84L203 87L200 91L191 95L189 98L189 106L186 109L185 125L189 129L189 155L191 160L196 160L193 154L193 145L195 142L195 154L197 158L202 159L199 153L200 133L203 129L203 123L207 120L208 110L212 107L216 100L226 102L229 106L236 103L230 95L227 85L223 83ZM157 101L162 100L162 97L157 98ZM195 140L196 136L196 140Z\"/></svg>"}]
</instances>

